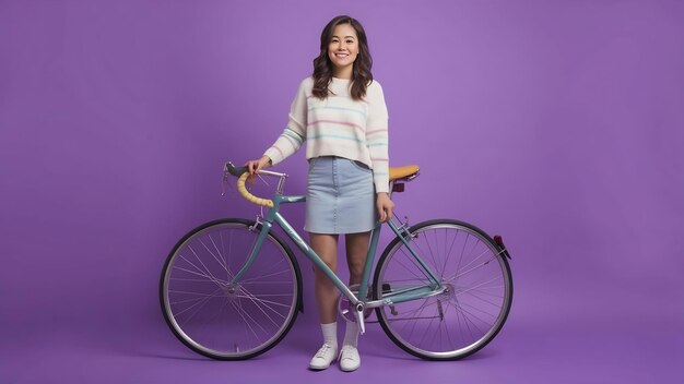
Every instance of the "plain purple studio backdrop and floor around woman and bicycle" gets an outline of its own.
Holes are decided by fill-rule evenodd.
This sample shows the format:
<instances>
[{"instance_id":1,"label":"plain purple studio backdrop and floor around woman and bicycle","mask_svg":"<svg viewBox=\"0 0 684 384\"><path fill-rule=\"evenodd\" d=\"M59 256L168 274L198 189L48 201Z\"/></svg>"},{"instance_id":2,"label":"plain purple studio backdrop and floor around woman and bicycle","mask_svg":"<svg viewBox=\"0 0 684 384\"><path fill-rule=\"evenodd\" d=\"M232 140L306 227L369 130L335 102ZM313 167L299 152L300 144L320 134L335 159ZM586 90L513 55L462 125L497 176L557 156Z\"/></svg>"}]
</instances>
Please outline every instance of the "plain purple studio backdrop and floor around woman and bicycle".
<instances>
[{"instance_id":1,"label":"plain purple studio backdrop and floor around woman and bicycle","mask_svg":"<svg viewBox=\"0 0 684 384\"><path fill-rule=\"evenodd\" d=\"M305 369L309 310L258 359L204 359L163 322L162 264L256 214L220 195L222 163L281 132L341 13L368 33L392 164L423 168L399 214L504 235L509 321L448 363L372 324L350 376ZM667 0L0 1L0 382L681 383L683 36ZM303 152L280 169L303 192Z\"/></svg>"}]
</instances>

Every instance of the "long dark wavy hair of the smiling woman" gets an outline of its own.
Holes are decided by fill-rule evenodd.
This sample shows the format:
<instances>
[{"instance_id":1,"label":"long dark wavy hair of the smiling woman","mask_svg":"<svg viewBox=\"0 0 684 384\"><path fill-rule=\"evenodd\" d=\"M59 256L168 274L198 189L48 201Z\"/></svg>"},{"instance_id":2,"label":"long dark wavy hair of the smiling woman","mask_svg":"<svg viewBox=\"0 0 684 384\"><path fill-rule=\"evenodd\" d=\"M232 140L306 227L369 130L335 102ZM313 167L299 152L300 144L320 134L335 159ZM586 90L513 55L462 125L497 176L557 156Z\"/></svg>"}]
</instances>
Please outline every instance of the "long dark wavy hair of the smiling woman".
<instances>
[{"instance_id":1,"label":"long dark wavy hair of the smiling woman","mask_svg":"<svg viewBox=\"0 0 684 384\"><path fill-rule=\"evenodd\" d=\"M328 85L332 81L332 62L328 57L328 46L332 39L334 27L340 24L350 24L358 37L358 56L354 61L351 94L354 100L361 100L366 96L366 87L373 82L373 73L370 73L373 58L368 50L368 40L364 27L356 19L346 15L333 17L320 34L320 53L314 59L314 89L311 94L323 99L330 93Z\"/></svg>"}]
</instances>

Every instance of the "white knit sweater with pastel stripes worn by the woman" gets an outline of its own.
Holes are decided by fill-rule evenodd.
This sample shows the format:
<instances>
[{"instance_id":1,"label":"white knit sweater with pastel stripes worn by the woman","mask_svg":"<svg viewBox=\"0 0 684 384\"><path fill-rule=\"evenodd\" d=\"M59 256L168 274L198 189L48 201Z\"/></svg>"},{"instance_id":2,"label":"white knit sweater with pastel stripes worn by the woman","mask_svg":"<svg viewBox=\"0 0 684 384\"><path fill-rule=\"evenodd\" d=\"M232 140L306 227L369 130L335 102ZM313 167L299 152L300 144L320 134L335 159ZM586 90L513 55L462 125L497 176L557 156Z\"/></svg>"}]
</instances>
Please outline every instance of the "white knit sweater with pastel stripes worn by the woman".
<instances>
[{"instance_id":1,"label":"white knit sweater with pastel stripes worn by the woman","mask_svg":"<svg viewBox=\"0 0 684 384\"><path fill-rule=\"evenodd\" d=\"M300 84L290 108L290 121L264 155L273 165L299 149L306 141L306 158L339 156L373 169L376 192L389 192L388 115L382 87L373 81L363 100L350 94L350 80L332 79L326 99L311 95L314 77Z\"/></svg>"}]
</instances>

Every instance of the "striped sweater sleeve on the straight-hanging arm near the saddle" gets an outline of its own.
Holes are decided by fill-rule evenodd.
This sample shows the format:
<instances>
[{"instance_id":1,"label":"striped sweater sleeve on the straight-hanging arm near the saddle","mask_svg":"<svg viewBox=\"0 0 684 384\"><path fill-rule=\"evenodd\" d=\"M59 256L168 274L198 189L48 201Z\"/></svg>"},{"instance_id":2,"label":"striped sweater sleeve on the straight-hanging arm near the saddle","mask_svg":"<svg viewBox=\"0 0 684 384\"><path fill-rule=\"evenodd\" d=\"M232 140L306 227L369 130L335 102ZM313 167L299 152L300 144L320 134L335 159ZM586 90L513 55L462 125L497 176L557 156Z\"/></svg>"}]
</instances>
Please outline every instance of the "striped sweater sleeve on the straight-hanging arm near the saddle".
<instances>
[{"instance_id":1,"label":"striped sweater sleeve on the straight-hanging arm near the saddle","mask_svg":"<svg viewBox=\"0 0 684 384\"><path fill-rule=\"evenodd\" d=\"M380 83L374 81L367 88L368 120L366 144L373 163L376 192L389 192L388 113Z\"/></svg>"}]
</instances>

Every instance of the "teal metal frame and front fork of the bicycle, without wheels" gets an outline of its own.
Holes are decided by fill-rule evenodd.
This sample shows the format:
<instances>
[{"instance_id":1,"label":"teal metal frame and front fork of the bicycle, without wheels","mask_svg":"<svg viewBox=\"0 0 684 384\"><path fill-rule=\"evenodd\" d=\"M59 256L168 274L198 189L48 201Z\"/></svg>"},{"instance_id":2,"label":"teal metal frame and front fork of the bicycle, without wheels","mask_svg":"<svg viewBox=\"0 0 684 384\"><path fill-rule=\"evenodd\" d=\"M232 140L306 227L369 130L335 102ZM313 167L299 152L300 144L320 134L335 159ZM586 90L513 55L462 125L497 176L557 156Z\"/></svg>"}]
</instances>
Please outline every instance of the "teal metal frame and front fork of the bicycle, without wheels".
<instances>
[{"instance_id":1,"label":"teal metal frame and front fork of the bicycle, without wheels","mask_svg":"<svg viewBox=\"0 0 684 384\"><path fill-rule=\"evenodd\" d=\"M320 268L326 274L326 276L328 276L328 278L330 278L332 284L340 290L340 292L342 292L342 295L344 295L350 300L350 303L352 303L354 308L356 309L356 316L359 316L359 315L363 316L362 313L364 311L364 308L377 308L377 307L382 307L382 305L391 305L393 303L399 303L399 302L404 302L404 301L415 300L420 298L425 298L428 296L438 295L444 290L444 287L440 284L439 278L435 276L435 273L427 266L427 264L425 264L425 262L423 262L423 260L421 260L416 251L411 245L411 242L410 242L411 235L409 233L409 231L404 230L403 226L398 227L394 223L390 220L388 221L389 227L394 232L394 235L397 235L399 239L401 239L401 242L406 247L406 249L411 253L411 256L414 259L414 261L417 262L418 265L421 265L423 273L429 279L429 285L402 287L401 289L398 289L398 290L392 289L391 295L388 295L382 300L374 300L374 301L362 300L361 298L365 298L368 293L368 280L369 280L369 276L372 272L370 269L373 268L373 265L374 265L374 259L375 259L375 253L376 253L376 249L378 245L378 240L380 238L381 223L379 221L376 223L375 229L373 230L373 236L370 238L370 245L368 247L366 264L364 265L362 280L358 287L358 296L356 296L350 289L350 287L345 285L332 269L330 269L330 267L320 259L320 256L316 254L316 252L311 249L311 247L309 247L309 244L306 241L304 241L304 239L302 239L302 236L299 236L299 233L292 227L292 225L287 223L287 220L283 217L283 215L280 214L281 204L303 203L305 201L306 201L306 196L303 196L303 195L292 195L292 196L275 195L272 199L273 207L267 212L263 220L259 220L261 224L261 231L259 232L257 241L255 242L251 249L249 257L247 259L247 261L245 262L245 265L243 265L240 271L238 271L238 273L233 277L231 285L234 286L240 281L240 279L243 278L245 273L249 269L249 267L251 266L256 257L258 257L259 252L261 250L261 245L263 244L263 241L267 238L267 235L273 227L273 223L276 223L285 231L287 237L290 237L297 244L297 247L302 250L302 252L304 252L307 259L314 262L314 264L318 268ZM359 320L359 324L361 324L361 328L363 332L363 328L364 328L363 320Z\"/></svg>"}]
</instances>

